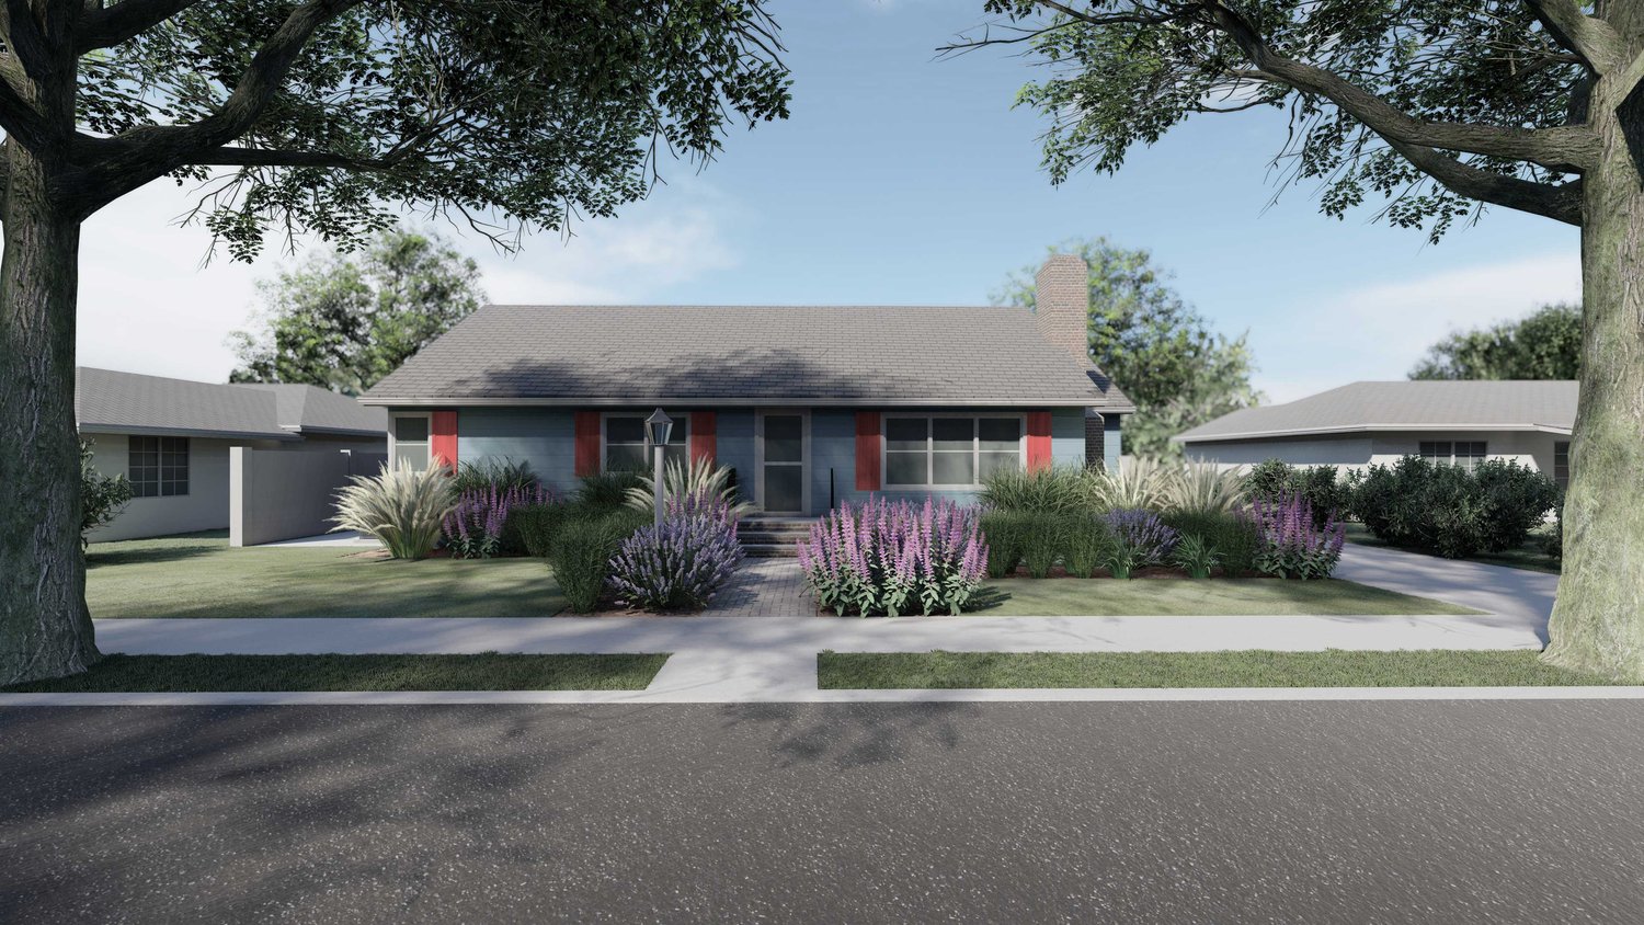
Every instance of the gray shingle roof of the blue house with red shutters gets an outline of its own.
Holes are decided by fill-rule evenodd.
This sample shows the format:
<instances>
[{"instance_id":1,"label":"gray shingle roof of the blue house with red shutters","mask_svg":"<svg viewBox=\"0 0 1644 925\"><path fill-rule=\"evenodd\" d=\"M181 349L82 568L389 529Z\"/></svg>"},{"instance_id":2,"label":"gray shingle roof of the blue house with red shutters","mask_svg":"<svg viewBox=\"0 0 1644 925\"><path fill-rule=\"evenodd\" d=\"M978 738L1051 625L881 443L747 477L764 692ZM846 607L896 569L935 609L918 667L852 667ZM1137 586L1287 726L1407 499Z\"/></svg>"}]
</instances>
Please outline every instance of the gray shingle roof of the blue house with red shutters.
<instances>
[{"instance_id":1,"label":"gray shingle roof of the blue house with red shutters","mask_svg":"<svg viewBox=\"0 0 1644 925\"><path fill-rule=\"evenodd\" d=\"M487 306L370 404L1046 404L1131 411L1026 309Z\"/></svg>"}]
</instances>

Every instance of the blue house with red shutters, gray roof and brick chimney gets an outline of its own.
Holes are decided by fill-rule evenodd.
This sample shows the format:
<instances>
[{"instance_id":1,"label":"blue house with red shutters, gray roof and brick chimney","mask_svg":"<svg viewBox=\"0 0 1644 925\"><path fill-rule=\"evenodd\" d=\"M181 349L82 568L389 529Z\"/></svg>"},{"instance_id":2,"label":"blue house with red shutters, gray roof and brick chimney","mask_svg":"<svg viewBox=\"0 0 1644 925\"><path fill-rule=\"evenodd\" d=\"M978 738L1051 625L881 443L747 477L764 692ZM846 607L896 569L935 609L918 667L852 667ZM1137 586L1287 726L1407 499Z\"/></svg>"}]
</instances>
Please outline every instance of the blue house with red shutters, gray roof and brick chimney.
<instances>
[{"instance_id":1,"label":"blue house with red shutters, gray roof and brick chimney","mask_svg":"<svg viewBox=\"0 0 1644 925\"><path fill-rule=\"evenodd\" d=\"M972 498L998 468L1116 465L1134 406L1090 361L1083 261L1047 261L1037 306L488 306L362 401L396 460L508 458L561 491L646 467L663 407L669 457L768 513Z\"/></svg>"}]
</instances>

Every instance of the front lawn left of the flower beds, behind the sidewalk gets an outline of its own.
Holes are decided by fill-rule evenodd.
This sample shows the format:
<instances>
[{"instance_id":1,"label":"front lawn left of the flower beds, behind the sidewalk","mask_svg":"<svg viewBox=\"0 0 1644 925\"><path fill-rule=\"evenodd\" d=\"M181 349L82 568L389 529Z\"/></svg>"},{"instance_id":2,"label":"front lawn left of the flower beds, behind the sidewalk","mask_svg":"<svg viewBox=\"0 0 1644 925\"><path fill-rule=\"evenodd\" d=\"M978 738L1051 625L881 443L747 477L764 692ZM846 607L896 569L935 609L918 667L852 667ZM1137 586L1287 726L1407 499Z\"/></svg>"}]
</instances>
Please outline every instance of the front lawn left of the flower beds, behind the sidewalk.
<instances>
[{"instance_id":1,"label":"front lawn left of the flower beds, behind the sidewalk","mask_svg":"<svg viewBox=\"0 0 1644 925\"><path fill-rule=\"evenodd\" d=\"M552 616L541 559L363 559L358 549L230 549L222 532L94 542L85 601L138 616Z\"/></svg>"}]
</instances>

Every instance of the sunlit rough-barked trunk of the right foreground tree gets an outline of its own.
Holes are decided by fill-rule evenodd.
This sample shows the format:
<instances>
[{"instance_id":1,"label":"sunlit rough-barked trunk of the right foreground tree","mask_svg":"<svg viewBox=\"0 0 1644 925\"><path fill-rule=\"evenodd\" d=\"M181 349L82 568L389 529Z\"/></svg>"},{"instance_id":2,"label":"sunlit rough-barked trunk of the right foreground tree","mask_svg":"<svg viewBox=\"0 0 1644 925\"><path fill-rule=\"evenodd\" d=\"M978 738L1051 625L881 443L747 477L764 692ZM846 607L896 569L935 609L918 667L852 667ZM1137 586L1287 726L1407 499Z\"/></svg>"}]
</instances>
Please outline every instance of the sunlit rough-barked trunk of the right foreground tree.
<instances>
[{"instance_id":1,"label":"sunlit rough-barked trunk of the right foreground tree","mask_svg":"<svg viewBox=\"0 0 1644 925\"><path fill-rule=\"evenodd\" d=\"M1644 680L1644 177L1634 161L1644 105L1603 90L1603 163L1583 179L1582 401L1547 659Z\"/></svg>"}]
</instances>

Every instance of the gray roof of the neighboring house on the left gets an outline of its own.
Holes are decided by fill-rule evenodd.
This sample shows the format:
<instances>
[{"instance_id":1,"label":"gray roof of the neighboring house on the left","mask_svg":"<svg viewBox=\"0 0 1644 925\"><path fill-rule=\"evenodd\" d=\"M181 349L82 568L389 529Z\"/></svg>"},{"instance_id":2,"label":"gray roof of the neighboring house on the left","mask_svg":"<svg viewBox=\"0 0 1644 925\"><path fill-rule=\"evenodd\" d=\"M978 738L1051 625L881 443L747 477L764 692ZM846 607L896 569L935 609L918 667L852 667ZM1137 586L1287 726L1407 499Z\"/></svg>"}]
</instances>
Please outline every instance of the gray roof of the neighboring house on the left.
<instances>
[{"instance_id":1,"label":"gray roof of the neighboring house on the left","mask_svg":"<svg viewBox=\"0 0 1644 925\"><path fill-rule=\"evenodd\" d=\"M293 384L217 384L81 366L74 381L81 430L194 434L296 440L306 430L381 435L386 412Z\"/></svg>"}]
</instances>

